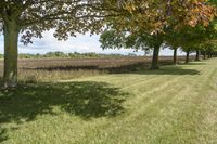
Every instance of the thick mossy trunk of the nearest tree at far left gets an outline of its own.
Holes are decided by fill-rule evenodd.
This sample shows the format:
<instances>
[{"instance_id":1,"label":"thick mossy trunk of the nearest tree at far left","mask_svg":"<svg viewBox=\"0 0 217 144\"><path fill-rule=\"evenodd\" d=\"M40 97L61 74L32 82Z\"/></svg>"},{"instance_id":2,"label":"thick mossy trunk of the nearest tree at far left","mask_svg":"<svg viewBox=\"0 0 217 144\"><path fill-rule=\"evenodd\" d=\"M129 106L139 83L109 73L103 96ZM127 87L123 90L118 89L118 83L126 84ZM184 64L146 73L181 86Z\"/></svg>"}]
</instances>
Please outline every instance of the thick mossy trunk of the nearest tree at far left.
<instances>
[{"instance_id":1,"label":"thick mossy trunk of the nearest tree at far left","mask_svg":"<svg viewBox=\"0 0 217 144\"><path fill-rule=\"evenodd\" d=\"M18 26L15 21L4 24L4 73L3 87L12 88L17 86L17 41Z\"/></svg>"}]
</instances>

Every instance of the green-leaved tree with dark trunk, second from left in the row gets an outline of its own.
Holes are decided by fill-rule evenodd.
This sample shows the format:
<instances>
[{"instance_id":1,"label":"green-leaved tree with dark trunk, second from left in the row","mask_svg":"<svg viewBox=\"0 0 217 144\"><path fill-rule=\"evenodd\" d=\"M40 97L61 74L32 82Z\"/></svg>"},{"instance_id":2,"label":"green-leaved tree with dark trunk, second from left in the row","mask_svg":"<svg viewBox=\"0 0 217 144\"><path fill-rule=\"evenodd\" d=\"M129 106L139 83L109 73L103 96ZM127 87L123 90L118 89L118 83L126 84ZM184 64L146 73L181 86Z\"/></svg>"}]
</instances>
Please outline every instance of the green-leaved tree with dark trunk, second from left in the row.
<instances>
[{"instance_id":1,"label":"green-leaved tree with dark trunk, second from left in the row","mask_svg":"<svg viewBox=\"0 0 217 144\"><path fill-rule=\"evenodd\" d=\"M164 42L163 34L140 34L117 32L116 30L104 31L100 37L101 47L103 49L135 49L150 51L153 50L151 69L158 69L158 54L161 45Z\"/></svg>"}]
</instances>

